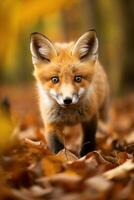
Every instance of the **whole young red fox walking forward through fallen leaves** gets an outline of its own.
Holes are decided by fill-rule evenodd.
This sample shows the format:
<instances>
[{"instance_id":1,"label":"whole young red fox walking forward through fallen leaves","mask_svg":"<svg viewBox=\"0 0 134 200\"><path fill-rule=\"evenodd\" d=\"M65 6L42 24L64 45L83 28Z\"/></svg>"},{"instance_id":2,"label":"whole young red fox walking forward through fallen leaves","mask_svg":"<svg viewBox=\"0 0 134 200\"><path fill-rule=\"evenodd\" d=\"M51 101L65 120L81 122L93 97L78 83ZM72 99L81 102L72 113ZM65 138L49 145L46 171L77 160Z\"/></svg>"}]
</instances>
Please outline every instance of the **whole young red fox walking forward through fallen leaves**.
<instances>
[{"instance_id":1,"label":"whole young red fox walking forward through fallen leaves","mask_svg":"<svg viewBox=\"0 0 134 200\"><path fill-rule=\"evenodd\" d=\"M109 93L95 30L70 43L53 43L35 32L30 50L48 147L54 153L63 149L64 127L80 123L80 156L84 156L96 147L97 122L105 113Z\"/></svg>"}]
</instances>

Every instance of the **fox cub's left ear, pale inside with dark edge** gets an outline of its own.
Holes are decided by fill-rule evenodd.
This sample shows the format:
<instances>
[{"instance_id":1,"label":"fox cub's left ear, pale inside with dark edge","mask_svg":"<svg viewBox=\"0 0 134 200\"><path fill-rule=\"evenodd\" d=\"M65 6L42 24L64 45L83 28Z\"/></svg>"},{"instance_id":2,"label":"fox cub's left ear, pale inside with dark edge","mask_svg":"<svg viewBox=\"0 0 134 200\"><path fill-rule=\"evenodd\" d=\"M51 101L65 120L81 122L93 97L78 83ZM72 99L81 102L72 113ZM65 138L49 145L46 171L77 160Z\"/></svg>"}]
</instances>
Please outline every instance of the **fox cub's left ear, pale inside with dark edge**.
<instances>
[{"instance_id":1,"label":"fox cub's left ear, pale inside with dark edge","mask_svg":"<svg viewBox=\"0 0 134 200\"><path fill-rule=\"evenodd\" d=\"M32 33L30 40L30 50L33 64L40 61L50 62L54 55L57 55L52 42L41 33Z\"/></svg>"}]
</instances>

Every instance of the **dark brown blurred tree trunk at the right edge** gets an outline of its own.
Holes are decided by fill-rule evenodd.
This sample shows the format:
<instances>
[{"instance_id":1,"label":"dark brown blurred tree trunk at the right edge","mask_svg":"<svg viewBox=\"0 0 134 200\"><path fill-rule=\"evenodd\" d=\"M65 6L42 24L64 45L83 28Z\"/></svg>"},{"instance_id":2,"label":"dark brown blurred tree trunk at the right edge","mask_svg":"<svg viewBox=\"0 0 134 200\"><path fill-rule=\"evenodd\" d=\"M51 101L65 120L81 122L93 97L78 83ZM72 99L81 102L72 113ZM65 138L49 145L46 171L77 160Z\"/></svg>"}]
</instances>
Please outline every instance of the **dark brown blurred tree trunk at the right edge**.
<instances>
[{"instance_id":1,"label":"dark brown blurred tree trunk at the right edge","mask_svg":"<svg viewBox=\"0 0 134 200\"><path fill-rule=\"evenodd\" d=\"M133 90L134 86L134 1L120 0L123 16L124 27L124 73L123 73L123 88L124 90ZM122 58L122 57L121 57Z\"/></svg>"}]
</instances>

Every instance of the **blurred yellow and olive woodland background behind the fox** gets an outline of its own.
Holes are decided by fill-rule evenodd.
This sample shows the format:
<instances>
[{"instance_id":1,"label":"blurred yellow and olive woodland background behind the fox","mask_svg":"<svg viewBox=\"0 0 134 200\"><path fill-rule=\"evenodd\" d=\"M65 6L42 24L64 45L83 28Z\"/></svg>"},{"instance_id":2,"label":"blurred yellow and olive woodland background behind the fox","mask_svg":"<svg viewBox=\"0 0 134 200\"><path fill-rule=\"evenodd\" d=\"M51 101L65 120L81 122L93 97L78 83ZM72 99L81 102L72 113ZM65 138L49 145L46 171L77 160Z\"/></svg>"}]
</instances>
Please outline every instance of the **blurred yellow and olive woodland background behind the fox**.
<instances>
[{"instance_id":1,"label":"blurred yellow and olive woodland background behind the fox","mask_svg":"<svg viewBox=\"0 0 134 200\"><path fill-rule=\"evenodd\" d=\"M27 103L26 97L33 94L31 32L41 32L52 41L62 42L76 39L92 28L98 34L99 58L108 73L112 95L132 93L133 20L133 0L1 1L0 97L9 96L16 102L17 96Z\"/></svg>"}]
</instances>

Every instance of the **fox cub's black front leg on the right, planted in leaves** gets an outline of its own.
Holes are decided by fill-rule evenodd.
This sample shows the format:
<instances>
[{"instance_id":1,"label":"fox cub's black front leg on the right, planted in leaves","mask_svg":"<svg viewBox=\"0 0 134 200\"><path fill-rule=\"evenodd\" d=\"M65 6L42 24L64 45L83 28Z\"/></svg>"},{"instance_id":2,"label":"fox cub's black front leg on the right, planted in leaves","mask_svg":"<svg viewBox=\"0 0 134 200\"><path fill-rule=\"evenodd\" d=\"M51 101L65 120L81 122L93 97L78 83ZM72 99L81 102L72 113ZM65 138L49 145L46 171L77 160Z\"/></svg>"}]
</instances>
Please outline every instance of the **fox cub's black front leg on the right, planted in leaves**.
<instances>
[{"instance_id":1,"label":"fox cub's black front leg on the right, planted in leaves","mask_svg":"<svg viewBox=\"0 0 134 200\"><path fill-rule=\"evenodd\" d=\"M83 142L80 151L80 156L86 155L88 152L95 150L96 148L96 130L97 130L97 116L94 116L90 122L84 122L83 128Z\"/></svg>"}]
</instances>

